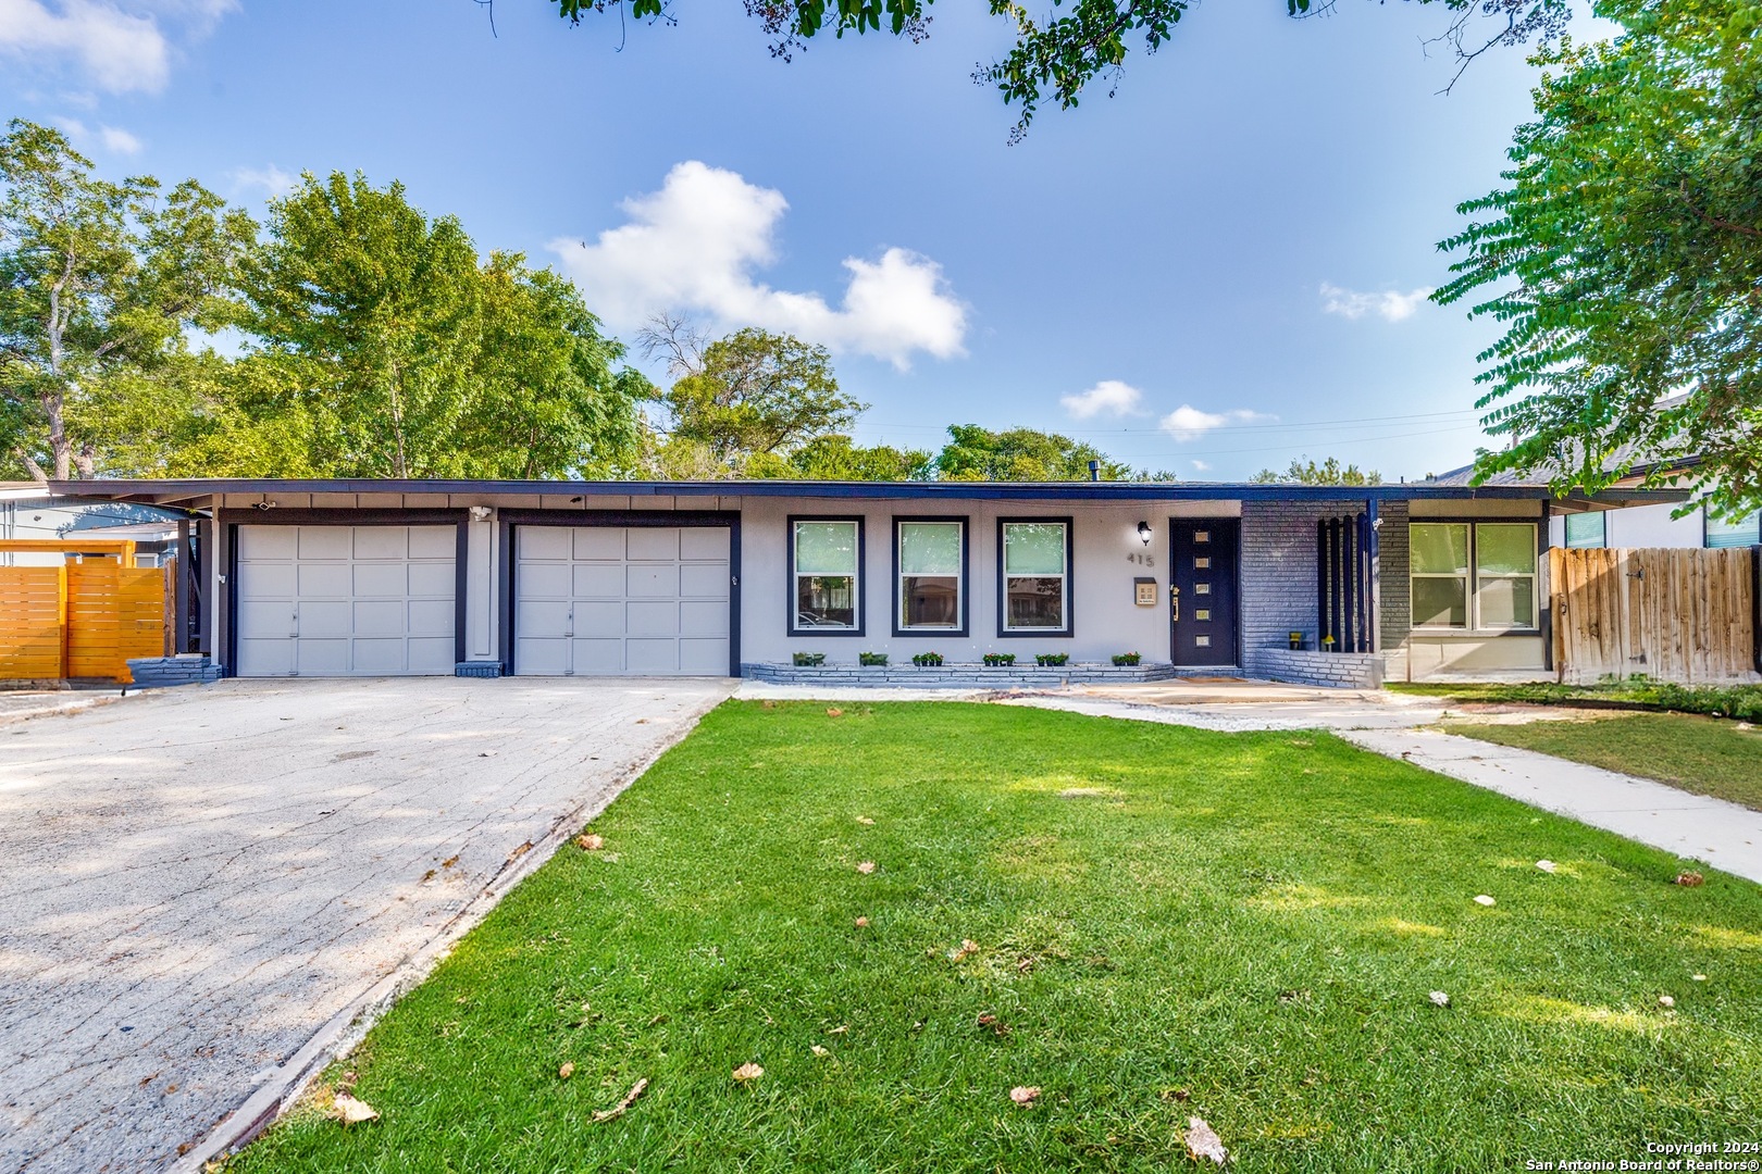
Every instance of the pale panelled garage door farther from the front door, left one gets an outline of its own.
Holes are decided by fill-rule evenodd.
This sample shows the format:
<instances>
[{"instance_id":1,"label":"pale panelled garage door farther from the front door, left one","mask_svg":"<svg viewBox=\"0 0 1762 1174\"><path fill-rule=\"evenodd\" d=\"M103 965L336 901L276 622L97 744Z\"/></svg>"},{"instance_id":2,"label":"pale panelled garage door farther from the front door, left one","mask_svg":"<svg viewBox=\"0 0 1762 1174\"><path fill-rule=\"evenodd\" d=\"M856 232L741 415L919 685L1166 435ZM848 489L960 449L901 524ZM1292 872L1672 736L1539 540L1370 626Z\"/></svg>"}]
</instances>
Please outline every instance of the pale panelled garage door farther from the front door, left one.
<instances>
[{"instance_id":1,"label":"pale panelled garage door farther from the front door, left one","mask_svg":"<svg viewBox=\"0 0 1762 1174\"><path fill-rule=\"evenodd\" d=\"M240 676L451 676L455 526L240 526Z\"/></svg>"}]
</instances>

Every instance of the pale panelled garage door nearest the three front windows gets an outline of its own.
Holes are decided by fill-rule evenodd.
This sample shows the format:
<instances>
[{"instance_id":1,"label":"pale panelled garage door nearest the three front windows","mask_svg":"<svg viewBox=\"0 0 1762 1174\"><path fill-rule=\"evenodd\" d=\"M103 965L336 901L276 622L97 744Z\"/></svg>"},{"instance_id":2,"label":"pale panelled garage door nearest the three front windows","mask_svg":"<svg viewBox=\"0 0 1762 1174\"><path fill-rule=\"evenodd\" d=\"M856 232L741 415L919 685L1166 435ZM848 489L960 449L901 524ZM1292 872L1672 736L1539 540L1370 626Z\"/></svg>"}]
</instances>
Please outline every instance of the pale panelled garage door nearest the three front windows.
<instances>
[{"instance_id":1,"label":"pale panelled garage door nearest the three front windows","mask_svg":"<svg viewBox=\"0 0 1762 1174\"><path fill-rule=\"evenodd\" d=\"M515 672L728 676L722 526L522 526Z\"/></svg>"}]
</instances>

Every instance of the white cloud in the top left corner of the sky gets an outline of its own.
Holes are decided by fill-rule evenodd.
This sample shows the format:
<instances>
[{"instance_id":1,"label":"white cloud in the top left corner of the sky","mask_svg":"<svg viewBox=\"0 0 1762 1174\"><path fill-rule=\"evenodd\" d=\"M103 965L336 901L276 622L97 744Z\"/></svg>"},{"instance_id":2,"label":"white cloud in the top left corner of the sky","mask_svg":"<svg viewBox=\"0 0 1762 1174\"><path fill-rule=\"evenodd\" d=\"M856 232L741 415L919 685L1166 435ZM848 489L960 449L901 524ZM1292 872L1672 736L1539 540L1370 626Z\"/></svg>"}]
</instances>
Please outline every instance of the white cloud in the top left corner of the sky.
<instances>
[{"instance_id":1,"label":"white cloud in the top left corner of the sky","mask_svg":"<svg viewBox=\"0 0 1762 1174\"><path fill-rule=\"evenodd\" d=\"M109 93L157 93L173 48L160 21L204 35L236 0L0 0L0 56L72 65Z\"/></svg>"}]
</instances>

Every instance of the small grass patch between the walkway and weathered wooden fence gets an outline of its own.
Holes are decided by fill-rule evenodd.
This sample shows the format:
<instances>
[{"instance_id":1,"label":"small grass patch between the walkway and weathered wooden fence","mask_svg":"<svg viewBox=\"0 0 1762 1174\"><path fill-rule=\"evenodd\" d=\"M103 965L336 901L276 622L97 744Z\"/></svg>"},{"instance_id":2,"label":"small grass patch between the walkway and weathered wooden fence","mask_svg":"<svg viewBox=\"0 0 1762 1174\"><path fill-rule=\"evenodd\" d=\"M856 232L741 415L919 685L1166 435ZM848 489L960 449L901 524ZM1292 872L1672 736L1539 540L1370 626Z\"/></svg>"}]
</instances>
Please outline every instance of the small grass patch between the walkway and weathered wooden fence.
<instances>
[{"instance_id":1,"label":"small grass patch between the walkway and weathered wooden fence","mask_svg":"<svg viewBox=\"0 0 1762 1174\"><path fill-rule=\"evenodd\" d=\"M1452 722L1445 729L1655 778L1697 796L1730 799L1762 811L1762 730L1748 722L1684 713L1614 713L1584 722L1526 725Z\"/></svg>"}]
</instances>

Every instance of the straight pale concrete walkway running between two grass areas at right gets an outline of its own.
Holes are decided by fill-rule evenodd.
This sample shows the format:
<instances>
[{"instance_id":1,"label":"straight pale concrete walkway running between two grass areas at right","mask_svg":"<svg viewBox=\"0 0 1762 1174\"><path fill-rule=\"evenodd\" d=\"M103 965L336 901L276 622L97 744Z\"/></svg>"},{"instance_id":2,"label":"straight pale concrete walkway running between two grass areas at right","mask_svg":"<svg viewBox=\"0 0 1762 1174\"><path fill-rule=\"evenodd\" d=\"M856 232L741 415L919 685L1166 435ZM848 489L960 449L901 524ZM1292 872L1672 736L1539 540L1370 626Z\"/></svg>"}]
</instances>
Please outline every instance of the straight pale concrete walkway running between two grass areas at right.
<instances>
[{"instance_id":1,"label":"straight pale concrete walkway running between two grass areas at right","mask_svg":"<svg viewBox=\"0 0 1762 1174\"><path fill-rule=\"evenodd\" d=\"M1339 730L1339 736L1355 746L1762 884L1762 811L1438 730L1355 729Z\"/></svg>"}]
</instances>

